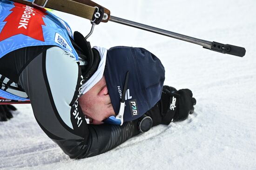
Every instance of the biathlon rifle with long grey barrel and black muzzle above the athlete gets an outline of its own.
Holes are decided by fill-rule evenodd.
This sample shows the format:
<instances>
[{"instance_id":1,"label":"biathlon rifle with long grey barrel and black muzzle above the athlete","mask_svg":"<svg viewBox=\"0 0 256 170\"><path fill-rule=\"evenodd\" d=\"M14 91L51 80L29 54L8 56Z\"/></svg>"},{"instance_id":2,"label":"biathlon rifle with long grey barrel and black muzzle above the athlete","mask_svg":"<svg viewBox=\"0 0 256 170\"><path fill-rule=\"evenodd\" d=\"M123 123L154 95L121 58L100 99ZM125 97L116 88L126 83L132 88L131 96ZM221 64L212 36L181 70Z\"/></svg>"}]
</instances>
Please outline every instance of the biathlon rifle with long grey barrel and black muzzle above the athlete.
<instances>
[{"instance_id":1,"label":"biathlon rifle with long grey barrel and black muzzle above the athlete","mask_svg":"<svg viewBox=\"0 0 256 170\"><path fill-rule=\"evenodd\" d=\"M103 6L96 4L91 0L13 0L15 2L27 4L30 6L47 7L50 9L58 10L64 13L70 13L76 16L80 16L85 19L91 20L92 28L86 39L93 33L94 26L101 22L112 21L118 24L132 26L141 30L154 32L171 38L180 39L189 43L201 45L203 48L221 52L224 54L230 54L238 57L243 57L246 53L245 48L217 43L215 41L207 41L199 38L189 37L176 32L163 30L153 26L137 23L127 19L121 19L110 15L110 11Z\"/></svg>"}]
</instances>

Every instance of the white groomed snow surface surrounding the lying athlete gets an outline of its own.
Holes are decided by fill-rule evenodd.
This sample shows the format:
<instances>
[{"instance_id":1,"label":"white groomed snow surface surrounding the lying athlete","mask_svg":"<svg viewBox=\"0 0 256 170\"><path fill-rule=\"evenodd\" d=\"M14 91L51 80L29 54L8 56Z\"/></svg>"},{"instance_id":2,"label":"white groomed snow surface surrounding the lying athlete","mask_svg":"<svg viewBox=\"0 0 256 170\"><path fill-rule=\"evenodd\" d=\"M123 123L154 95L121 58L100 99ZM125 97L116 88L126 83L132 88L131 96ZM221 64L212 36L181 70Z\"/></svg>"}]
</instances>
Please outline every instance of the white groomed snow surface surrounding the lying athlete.
<instances>
[{"instance_id":1,"label":"white groomed snow surface surrounding the lying athlete","mask_svg":"<svg viewBox=\"0 0 256 170\"><path fill-rule=\"evenodd\" d=\"M170 31L243 46L224 55L113 22L95 27L92 45L143 47L166 68L165 84L190 88L188 120L156 126L112 151L69 159L37 125L30 105L0 122L0 169L22 170L256 170L256 1L97 0L112 15ZM86 35L88 20L54 12Z\"/></svg>"}]
</instances>

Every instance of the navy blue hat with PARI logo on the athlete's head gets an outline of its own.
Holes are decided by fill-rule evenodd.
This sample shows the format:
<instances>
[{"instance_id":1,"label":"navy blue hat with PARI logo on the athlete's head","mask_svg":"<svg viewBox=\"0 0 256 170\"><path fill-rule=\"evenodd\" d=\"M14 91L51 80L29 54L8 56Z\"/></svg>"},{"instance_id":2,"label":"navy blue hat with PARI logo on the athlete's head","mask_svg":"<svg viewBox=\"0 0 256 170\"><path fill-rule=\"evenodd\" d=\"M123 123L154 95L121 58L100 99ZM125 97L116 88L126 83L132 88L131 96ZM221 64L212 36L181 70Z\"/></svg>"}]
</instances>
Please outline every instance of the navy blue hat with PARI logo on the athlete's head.
<instances>
[{"instance_id":1,"label":"navy blue hat with PARI logo on the athlete's head","mask_svg":"<svg viewBox=\"0 0 256 170\"><path fill-rule=\"evenodd\" d=\"M104 76L116 115L125 94L123 122L140 118L161 99L165 70L161 61L148 50L124 46L109 49ZM125 82L128 82L127 88ZM105 122L120 124L111 120Z\"/></svg>"}]
</instances>

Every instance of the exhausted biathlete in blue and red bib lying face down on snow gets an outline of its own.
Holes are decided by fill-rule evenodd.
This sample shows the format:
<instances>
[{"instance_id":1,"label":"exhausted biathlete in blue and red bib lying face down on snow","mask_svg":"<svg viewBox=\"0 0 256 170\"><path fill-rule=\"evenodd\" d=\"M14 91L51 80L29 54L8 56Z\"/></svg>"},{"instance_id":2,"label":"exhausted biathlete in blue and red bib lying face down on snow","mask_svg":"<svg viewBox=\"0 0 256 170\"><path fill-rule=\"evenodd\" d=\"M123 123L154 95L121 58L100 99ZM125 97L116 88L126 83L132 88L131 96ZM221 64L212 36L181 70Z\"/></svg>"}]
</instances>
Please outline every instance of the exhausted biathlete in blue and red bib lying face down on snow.
<instances>
[{"instance_id":1,"label":"exhausted biathlete in blue and red bib lying face down on snow","mask_svg":"<svg viewBox=\"0 0 256 170\"><path fill-rule=\"evenodd\" d=\"M0 0L0 16L0 96L29 99L41 129L71 158L109 151L194 111L192 92L163 86L164 67L148 50L91 48L52 13L8 0ZM0 120L13 109L0 106Z\"/></svg>"}]
</instances>

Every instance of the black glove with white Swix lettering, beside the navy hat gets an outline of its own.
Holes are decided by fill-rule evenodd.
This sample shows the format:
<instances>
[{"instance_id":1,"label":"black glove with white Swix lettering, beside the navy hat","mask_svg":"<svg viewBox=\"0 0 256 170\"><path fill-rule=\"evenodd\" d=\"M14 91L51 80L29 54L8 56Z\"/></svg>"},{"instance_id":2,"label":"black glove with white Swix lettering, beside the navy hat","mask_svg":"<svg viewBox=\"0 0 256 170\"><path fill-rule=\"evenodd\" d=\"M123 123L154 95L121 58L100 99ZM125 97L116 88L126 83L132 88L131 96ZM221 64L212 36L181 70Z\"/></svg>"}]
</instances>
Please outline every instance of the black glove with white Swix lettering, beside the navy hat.
<instances>
[{"instance_id":1,"label":"black glove with white Swix lettering, beside the navy hat","mask_svg":"<svg viewBox=\"0 0 256 170\"><path fill-rule=\"evenodd\" d=\"M164 86L161 100L158 101L146 114L153 120L153 126L168 125L173 121L182 121L194 112L195 98L189 89L176 90Z\"/></svg>"}]
</instances>

